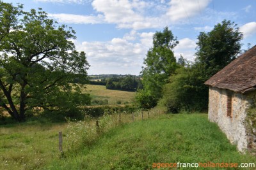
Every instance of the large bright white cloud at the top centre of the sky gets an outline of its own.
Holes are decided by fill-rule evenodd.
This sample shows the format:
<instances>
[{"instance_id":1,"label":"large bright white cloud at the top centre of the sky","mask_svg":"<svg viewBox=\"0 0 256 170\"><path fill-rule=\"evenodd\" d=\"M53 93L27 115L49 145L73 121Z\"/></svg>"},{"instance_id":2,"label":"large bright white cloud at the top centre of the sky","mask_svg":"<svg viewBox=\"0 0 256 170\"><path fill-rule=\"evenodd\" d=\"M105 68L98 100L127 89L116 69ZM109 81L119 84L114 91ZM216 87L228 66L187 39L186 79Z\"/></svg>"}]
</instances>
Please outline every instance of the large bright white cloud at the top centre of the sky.
<instances>
[{"instance_id":1,"label":"large bright white cloud at the top centre of the sky","mask_svg":"<svg viewBox=\"0 0 256 170\"><path fill-rule=\"evenodd\" d=\"M154 13L150 15L154 9L165 9L163 4L157 4L150 1L138 0L94 0L93 9L104 15L105 22L117 24L118 28L125 29L147 29L164 27L170 24L165 15ZM159 12L159 10L157 10Z\"/></svg>"}]
</instances>

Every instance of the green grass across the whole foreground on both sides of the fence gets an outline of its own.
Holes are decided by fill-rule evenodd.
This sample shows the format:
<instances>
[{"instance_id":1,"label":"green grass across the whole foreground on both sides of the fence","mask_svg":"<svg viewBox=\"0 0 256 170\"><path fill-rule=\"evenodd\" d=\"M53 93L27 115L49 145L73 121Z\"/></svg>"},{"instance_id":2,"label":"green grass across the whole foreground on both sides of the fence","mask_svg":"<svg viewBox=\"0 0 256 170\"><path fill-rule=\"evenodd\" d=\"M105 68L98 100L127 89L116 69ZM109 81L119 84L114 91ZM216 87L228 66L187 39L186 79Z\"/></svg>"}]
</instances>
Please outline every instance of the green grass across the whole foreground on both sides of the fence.
<instances>
[{"instance_id":1,"label":"green grass across the whole foreground on both sides of the fence","mask_svg":"<svg viewBox=\"0 0 256 170\"><path fill-rule=\"evenodd\" d=\"M252 155L237 152L218 126L208 122L206 114L160 115L117 127L111 126L114 123L109 117L104 121L100 125L111 128L105 125L103 128L108 130L90 143L88 133L83 133L90 124L81 127L81 122L2 126L0 169L153 169L154 162L256 163ZM71 154L60 157L58 131L63 131L67 152L70 125L83 130L77 132L79 138L72 138L81 147L77 146L74 154L70 150Z\"/></svg>"}]
</instances>

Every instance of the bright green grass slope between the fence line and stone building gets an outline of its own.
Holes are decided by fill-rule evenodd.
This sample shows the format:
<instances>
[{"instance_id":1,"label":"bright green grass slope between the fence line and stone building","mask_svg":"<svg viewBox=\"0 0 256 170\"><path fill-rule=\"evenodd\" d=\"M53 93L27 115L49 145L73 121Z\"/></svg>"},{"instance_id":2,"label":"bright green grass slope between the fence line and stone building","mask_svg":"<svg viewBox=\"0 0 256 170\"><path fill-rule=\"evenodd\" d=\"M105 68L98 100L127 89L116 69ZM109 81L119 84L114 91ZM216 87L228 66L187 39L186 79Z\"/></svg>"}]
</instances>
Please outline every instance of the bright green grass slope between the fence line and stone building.
<instances>
[{"instance_id":1,"label":"bright green grass slope between the fence line and stone building","mask_svg":"<svg viewBox=\"0 0 256 170\"><path fill-rule=\"evenodd\" d=\"M54 159L43 169L152 169L154 162L208 161L240 164L256 159L237 152L205 114L163 115L113 128L94 145L73 157Z\"/></svg>"}]
</instances>

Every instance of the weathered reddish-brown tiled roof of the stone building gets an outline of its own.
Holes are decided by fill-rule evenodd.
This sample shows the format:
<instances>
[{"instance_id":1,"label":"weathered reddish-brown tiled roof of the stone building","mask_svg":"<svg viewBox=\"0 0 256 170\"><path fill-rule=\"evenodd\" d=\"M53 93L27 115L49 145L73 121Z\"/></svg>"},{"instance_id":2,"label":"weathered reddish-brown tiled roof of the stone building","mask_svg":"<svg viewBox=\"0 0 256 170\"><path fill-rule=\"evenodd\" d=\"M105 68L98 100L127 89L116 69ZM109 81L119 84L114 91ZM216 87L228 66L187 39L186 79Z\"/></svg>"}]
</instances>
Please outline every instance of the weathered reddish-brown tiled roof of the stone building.
<instances>
[{"instance_id":1,"label":"weathered reddish-brown tiled roof of the stone building","mask_svg":"<svg viewBox=\"0 0 256 170\"><path fill-rule=\"evenodd\" d=\"M205 81L205 85L239 93L256 90L256 45Z\"/></svg>"}]
</instances>

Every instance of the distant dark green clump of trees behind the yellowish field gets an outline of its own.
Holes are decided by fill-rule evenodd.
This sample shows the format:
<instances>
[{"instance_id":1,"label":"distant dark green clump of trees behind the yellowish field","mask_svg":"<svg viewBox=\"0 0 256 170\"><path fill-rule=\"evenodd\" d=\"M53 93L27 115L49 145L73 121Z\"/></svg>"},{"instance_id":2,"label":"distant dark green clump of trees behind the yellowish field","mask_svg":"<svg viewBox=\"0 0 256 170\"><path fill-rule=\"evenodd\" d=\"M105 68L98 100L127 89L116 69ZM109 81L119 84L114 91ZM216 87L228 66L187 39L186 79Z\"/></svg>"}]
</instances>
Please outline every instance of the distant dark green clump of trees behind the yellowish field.
<instances>
[{"instance_id":1,"label":"distant dark green clump of trees behind the yellowish field","mask_svg":"<svg viewBox=\"0 0 256 170\"><path fill-rule=\"evenodd\" d=\"M113 77L106 80L106 89L136 91L142 89L140 78L136 76L127 75L125 77Z\"/></svg>"}]
</instances>

